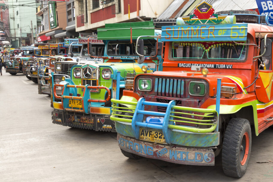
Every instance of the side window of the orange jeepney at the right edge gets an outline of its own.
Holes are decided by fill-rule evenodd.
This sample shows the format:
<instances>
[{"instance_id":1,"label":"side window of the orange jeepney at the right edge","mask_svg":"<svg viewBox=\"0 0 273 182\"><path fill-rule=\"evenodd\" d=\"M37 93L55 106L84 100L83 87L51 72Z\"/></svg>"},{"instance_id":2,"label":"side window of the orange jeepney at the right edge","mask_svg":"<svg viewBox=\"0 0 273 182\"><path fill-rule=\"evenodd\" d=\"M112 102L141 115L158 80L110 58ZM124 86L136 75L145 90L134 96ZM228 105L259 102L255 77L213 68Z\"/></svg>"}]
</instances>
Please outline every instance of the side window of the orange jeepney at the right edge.
<instances>
[{"instance_id":1,"label":"side window of the orange jeepney at the right edge","mask_svg":"<svg viewBox=\"0 0 273 182\"><path fill-rule=\"evenodd\" d=\"M266 39L266 46L267 46L267 48L266 48L267 50L266 50L264 56L262 56L262 62L265 65L265 67L263 67L263 68L261 67L260 69L272 70L272 53L271 53L272 52L272 38ZM263 53L262 47L264 47L264 39L262 40L262 43L261 43L261 54Z\"/></svg>"}]
</instances>

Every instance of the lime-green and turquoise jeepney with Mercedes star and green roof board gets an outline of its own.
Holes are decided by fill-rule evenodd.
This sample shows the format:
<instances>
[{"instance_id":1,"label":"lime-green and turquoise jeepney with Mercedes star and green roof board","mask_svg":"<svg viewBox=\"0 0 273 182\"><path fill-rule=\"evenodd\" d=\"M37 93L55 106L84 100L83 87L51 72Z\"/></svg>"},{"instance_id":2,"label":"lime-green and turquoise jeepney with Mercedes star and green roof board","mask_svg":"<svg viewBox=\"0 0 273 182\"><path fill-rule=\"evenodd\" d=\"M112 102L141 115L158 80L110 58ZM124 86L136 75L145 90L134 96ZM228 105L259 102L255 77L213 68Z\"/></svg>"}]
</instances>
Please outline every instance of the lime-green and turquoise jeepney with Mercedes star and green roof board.
<instances>
[{"instance_id":1,"label":"lime-green and turquoise jeepney with Mercedes star and green roof board","mask_svg":"<svg viewBox=\"0 0 273 182\"><path fill-rule=\"evenodd\" d=\"M140 35L154 36L153 22L106 24L105 28L98 29L98 40L80 38L79 42L83 43L81 54L90 56L92 61L55 63L57 75L52 74L52 123L116 132L115 124L110 120L110 99L121 98L122 90L132 87L135 75L158 70L157 65L162 64L161 54L156 54L161 52L162 47L157 46L153 37L143 39L145 63L136 62L136 39ZM57 84L55 77L60 76L64 67L69 70L70 78L61 77L64 81ZM57 88L61 88L60 95Z\"/></svg>"}]
</instances>

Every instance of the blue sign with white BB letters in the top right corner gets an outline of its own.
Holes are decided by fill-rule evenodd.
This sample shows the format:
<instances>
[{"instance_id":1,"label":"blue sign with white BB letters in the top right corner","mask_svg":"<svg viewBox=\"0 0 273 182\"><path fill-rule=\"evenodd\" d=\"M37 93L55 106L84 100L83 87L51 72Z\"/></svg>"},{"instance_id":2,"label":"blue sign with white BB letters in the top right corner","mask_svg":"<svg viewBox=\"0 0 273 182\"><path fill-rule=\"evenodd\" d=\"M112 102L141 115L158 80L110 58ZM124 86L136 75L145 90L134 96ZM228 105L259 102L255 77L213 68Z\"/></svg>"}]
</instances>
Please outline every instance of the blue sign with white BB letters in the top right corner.
<instances>
[{"instance_id":1,"label":"blue sign with white BB letters in the top right corner","mask_svg":"<svg viewBox=\"0 0 273 182\"><path fill-rule=\"evenodd\" d=\"M259 13L261 15L268 14L270 16L273 16L273 1L272 0L256 0ZM273 23L273 19L268 19L269 23Z\"/></svg>"}]
</instances>

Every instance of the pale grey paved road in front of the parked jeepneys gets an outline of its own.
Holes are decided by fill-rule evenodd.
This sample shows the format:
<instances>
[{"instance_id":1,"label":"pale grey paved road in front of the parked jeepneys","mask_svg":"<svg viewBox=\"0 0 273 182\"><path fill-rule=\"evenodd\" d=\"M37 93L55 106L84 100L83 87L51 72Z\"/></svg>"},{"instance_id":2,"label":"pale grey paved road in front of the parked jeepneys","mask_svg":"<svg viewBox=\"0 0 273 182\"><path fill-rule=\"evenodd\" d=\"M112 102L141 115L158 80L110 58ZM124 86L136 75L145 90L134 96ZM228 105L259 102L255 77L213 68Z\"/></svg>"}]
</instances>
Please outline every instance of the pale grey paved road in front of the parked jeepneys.
<instances>
[{"instance_id":1,"label":"pale grey paved road in front of the parked jeepneys","mask_svg":"<svg viewBox=\"0 0 273 182\"><path fill-rule=\"evenodd\" d=\"M215 166L123 156L116 133L52 124L50 97L21 73L0 76L0 181L273 181L273 127L252 135L241 179Z\"/></svg>"}]
</instances>

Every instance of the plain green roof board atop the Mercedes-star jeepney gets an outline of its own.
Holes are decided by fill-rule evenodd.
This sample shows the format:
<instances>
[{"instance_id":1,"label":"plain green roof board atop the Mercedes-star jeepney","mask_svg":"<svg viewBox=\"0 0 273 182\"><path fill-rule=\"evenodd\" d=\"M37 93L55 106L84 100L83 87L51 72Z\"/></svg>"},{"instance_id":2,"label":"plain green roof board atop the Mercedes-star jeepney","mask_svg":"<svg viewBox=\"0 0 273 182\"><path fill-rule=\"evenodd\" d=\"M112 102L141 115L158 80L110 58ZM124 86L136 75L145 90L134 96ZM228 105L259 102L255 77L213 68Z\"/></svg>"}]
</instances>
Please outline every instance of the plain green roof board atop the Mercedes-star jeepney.
<instances>
[{"instance_id":1,"label":"plain green roof board atop the Mercedes-star jeepney","mask_svg":"<svg viewBox=\"0 0 273 182\"><path fill-rule=\"evenodd\" d=\"M155 35L155 26L152 21L108 23L105 28L98 28L98 40L128 40L137 39L141 35Z\"/></svg>"}]
</instances>

